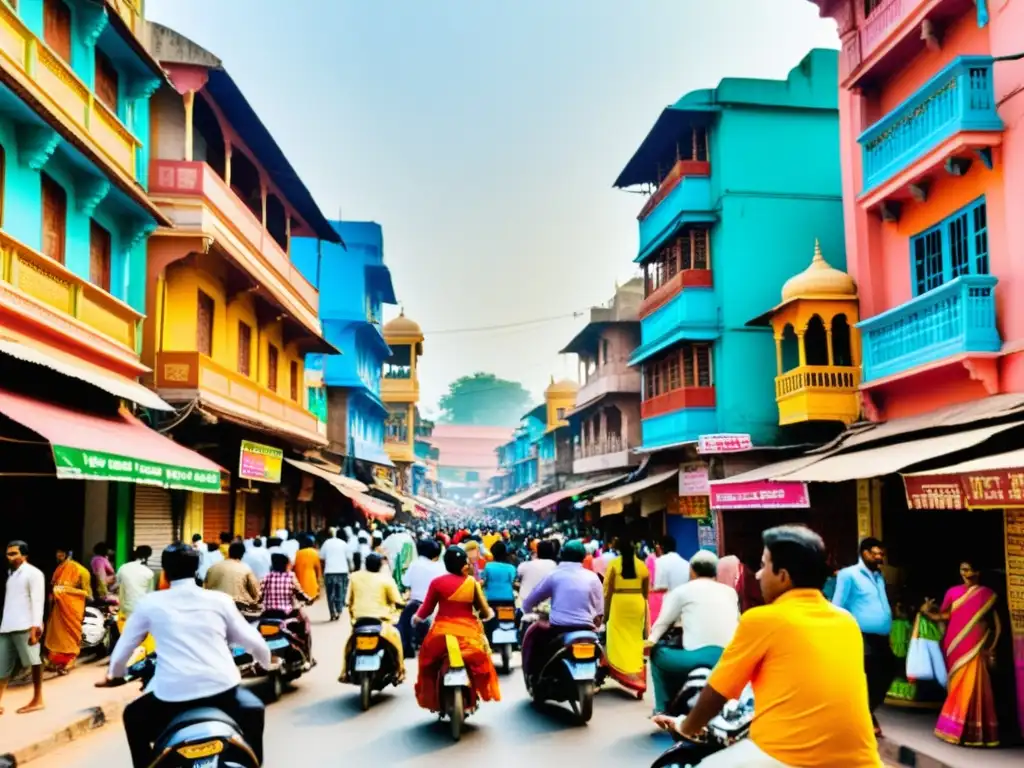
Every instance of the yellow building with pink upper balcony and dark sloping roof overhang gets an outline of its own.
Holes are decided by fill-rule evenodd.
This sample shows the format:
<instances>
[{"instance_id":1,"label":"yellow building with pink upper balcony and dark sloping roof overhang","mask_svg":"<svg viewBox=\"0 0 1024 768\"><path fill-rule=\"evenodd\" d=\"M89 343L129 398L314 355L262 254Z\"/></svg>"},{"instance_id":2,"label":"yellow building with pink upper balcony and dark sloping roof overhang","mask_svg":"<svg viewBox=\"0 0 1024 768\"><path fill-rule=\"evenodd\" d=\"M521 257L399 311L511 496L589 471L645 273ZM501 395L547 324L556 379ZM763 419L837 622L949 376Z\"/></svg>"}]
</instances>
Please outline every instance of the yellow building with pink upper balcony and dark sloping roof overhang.
<instances>
[{"instance_id":1,"label":"yellow building with pink upper balcony and dark sloping roof overhang","mask_svg":"<svg viewBox=\"0 0 1024 768\"><path fill-rule=\"evenodd\" d=\"M230 471L226 493L186 501L184 532L306 529L321 521L284 459L328 444L304 368L337 350L292 245L341 238L221 61L159 25L150 44L167 73L152 102L150 188L173 228L148 243L142 358L184 409L168 425L175 438Z\"/></svg>"}]
</instances>

